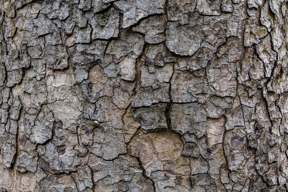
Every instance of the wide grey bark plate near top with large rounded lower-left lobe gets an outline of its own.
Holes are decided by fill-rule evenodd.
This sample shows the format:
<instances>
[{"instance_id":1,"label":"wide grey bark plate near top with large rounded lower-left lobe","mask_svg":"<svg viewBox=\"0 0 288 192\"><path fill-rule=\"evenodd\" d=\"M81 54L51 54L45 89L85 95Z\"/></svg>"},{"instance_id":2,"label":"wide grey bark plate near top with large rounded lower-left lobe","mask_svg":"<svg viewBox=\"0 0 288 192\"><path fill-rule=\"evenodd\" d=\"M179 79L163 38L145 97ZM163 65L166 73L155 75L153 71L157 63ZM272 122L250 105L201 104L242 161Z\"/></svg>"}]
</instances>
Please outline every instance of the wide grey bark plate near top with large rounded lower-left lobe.
<instances>
[{"instance_id":1,"label":"wide grey bark plate near top with large rounded lower-left lobe","mask_svg":"<svg viewBox=\"0 0 288 192\"><path fill-rule=\"evenodd\" d=\"M192 56L200 46L216 52L217 47L225 42L226 21L225 17L190 13L189 23L186 25L181 22L168 22L166 45L170 51L182 56Z\"/></svg>"}]
</instances>

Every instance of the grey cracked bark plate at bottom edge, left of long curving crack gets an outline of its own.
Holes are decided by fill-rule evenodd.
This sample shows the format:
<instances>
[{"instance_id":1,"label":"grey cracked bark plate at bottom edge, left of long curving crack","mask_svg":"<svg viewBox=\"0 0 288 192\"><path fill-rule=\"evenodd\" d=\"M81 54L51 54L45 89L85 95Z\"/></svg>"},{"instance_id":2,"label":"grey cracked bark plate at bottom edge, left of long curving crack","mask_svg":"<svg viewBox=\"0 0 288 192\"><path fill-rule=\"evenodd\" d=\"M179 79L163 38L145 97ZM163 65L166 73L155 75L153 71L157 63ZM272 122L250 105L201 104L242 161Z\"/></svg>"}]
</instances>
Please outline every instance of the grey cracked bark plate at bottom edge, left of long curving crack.
<instances>
[{"instance_id":1,"label":"grey cracked bark plate at bottom edge, left of long curving crack","mask_svg":"<svg viewBox=\"0 0 288 192\"><path fill-rule=\"evenodd\" d=\"M88 165L101 191L153 191L152 182L143 177L141 167L134 157L120 155L118 159L105 161L92 154Z\"/></svg>"}]
</instances>

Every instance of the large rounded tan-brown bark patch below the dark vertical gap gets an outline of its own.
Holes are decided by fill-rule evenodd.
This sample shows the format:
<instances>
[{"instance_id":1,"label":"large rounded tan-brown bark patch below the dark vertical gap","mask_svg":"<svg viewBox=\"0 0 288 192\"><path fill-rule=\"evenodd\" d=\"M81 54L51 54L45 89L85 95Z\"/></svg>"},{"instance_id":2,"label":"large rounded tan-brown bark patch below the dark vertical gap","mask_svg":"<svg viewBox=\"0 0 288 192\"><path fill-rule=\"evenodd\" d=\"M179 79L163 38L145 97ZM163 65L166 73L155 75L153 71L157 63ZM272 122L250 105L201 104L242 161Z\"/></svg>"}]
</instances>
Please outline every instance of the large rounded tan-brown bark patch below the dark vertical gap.
<instances>
[{"instance_id":1,"label":"large rounded tan-brown bark patch below the dark vertical gap","mask_svg":"<svg viewBox=\"0 0 288 192\"><path fill-rule=\"evenodd\" d=\"M146 175L157 180L156 171L169 171L172 174L189 175L189 158L181 155L183 144L179 135L170 131L140 132L129 144L131 155L138 157L146 170ZM167 154L169 150L171 153ZM177 163L181 162L181 163ZM167 178L166 178L167 179ZM164 178L164 180L166 180Z\"/></svg>"}]
</instances>

